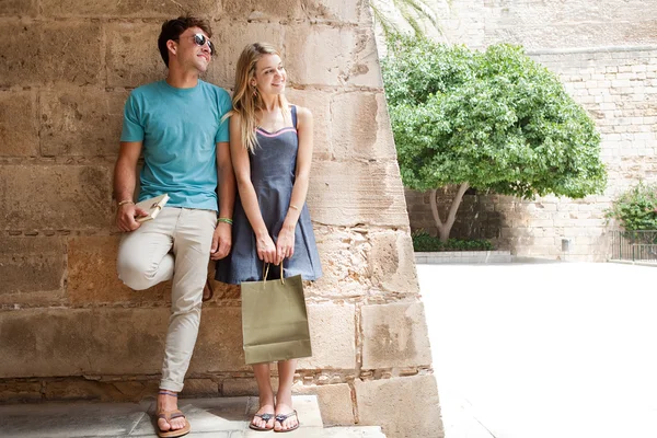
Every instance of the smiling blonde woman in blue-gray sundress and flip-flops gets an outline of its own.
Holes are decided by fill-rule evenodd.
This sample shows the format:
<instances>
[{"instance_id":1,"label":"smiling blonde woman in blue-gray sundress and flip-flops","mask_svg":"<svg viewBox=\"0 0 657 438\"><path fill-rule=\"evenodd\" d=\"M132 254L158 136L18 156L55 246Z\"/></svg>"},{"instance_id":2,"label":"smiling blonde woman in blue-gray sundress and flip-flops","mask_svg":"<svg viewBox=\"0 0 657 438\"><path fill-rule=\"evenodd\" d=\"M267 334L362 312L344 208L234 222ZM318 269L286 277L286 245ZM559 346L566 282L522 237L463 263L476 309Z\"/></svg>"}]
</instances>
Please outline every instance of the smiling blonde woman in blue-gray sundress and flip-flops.
<instances>
[{"instance_id":1,"label":"smiling blonde woman in blue-gray sundress and flip-flops","mask_svg":"<svg viewBox=\"0 0 657 438\"><path fill-rule=\"evenodd\" d=\"M230 151L239 196L233 216L231 254L217 264L219 281L262 280L263 264L269 277L314 280L322 275L310 214L306 206L312 159L312 114L285 97L287 74L278 51L268 44L250 44L238 60L233 111L230 113ZM269 364L253 366L260 410L250 427L290 431L299 427L292 408L297 361L278 362L276 400Z\"/></svg>"}]
</instances>

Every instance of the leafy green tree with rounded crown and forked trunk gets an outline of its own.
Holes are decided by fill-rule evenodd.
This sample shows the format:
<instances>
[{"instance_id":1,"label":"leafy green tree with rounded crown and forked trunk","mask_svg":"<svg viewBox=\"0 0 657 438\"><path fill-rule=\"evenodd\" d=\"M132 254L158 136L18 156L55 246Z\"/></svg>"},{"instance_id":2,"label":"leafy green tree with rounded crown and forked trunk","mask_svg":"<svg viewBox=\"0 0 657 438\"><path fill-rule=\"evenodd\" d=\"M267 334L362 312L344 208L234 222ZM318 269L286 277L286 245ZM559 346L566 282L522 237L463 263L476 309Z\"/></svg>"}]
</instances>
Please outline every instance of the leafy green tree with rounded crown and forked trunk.
<instances>
[{"instance_id":1,"label":"leafy green tree with rounded crown and forked trunk","mask_svg":"<svg viewBox=\"0 0 657 438\"><path fill-rule=\"evenodd\" d=\"M521 47L476 51L397 35L382 70L402 180L431 191L442 241L469 187L523 198L604 189L593 122ZM457 195L441 219L436 193L449 185Z\"/></svg>"}]
</instances>

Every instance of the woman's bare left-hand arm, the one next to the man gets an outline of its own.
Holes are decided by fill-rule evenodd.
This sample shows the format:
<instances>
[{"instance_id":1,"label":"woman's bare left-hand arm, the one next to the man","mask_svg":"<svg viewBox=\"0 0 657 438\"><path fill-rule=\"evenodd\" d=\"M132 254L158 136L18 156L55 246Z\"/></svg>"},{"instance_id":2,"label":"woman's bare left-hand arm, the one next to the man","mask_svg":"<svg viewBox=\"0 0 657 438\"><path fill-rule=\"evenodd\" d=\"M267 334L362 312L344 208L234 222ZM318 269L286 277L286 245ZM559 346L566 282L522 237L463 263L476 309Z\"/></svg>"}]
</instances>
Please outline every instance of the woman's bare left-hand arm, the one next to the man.
<instances>
[{"instance_id":1,"label":"woman's bare left-hand arm, the one next to the man","mask_svg":"<svg viewBox=\"0 0 657 438\"><path fill-rule=\"evenodd\" d=\"M253 183L251 182L249 151L242 145L241 117L238 114L233 114L230 118L230 155L235 172L240 199L242 200L249 223L251 223L251 228L255 233L257 256L266 263L278 263L276 246L263 220L255 188L253 188Z\"/></svg>"}]
</instances>

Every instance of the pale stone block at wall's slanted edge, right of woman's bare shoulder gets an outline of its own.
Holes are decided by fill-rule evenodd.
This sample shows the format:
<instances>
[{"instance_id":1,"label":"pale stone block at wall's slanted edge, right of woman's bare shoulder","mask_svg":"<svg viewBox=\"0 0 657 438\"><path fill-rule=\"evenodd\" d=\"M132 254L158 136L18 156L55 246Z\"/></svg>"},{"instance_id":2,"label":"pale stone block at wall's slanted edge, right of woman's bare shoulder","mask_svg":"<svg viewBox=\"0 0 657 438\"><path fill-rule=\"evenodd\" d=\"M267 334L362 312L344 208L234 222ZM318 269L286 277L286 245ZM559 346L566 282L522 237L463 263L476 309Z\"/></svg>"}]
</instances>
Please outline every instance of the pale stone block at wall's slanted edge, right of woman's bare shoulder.
<instances>
[{"instance_id":1,"label":"pale stone block at wall's slanted edge, right of woman's bare shoulder","mask_svg":"<svg viewBox=\"0 0 657 438\"><path fill-rule=\"evenodd\" d=\"M338 160L395 159L385 99L362 91L336 94L331 101L331 124Z\"/></svg>"}]
</instances>

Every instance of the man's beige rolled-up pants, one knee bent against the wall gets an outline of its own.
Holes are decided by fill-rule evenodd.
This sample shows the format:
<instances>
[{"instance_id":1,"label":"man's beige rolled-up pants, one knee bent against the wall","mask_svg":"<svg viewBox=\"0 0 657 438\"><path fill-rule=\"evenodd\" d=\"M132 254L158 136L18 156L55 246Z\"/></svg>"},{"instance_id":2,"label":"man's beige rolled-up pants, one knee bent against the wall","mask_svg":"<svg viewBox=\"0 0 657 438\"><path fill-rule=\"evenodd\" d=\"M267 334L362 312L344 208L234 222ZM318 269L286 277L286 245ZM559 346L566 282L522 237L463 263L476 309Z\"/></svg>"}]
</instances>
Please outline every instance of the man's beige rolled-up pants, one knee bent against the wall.
<instances>
[{"instance_id":1,"label":"man's beige rolled-up pants, one knee bent against the wall","mask_svg":"<svg viewBox=\"0 0 657 438\"><path fill-rule=\"evenodd\" d=\"M118 247L118 278L128 287L143 290L173 278L163 390L183 390L198 335L216 224L215 211L164 207L154 220L124 234Z\"/></svg>"}]
</instances>

